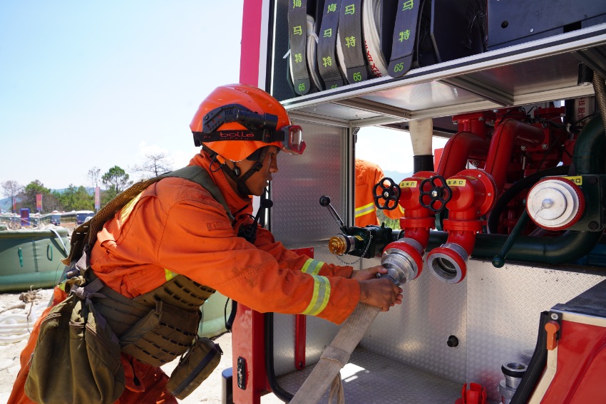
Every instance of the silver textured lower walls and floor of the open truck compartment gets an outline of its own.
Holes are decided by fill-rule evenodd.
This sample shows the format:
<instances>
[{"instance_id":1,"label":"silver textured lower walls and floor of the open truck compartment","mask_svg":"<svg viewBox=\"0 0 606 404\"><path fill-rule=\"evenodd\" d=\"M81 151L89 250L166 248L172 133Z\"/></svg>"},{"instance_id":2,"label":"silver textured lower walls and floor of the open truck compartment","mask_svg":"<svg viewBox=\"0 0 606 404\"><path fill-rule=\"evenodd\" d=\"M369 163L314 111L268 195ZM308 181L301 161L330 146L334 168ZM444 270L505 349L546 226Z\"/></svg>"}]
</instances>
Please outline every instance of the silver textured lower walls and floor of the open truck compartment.
<instances>
[{"instance_id":1,"label":"silver textured lower walls and floor of the open truck compartment","mask_svg":"<svg viewBox=\"0 0 606 404\"><path fill-rule=\"evenodd\" d=\"M315 249L315 257L339 262L322 247ZM378 259L364 259L360 267L375 264ZM341 370L346 402L377 403L380 396L381 403L454 403L463 383L481 384L488 398L498 402L501 366L530 361L540 312L605 278L587 266L510 262L495 268L479 259L469 261L460 284L445 284L423 273L404 284L401 306L377 316ZM308 317L308 366L296 371L293 316L274 316L274 368L284 390L297 391L337 330L332 323ZM448 346L451 336L457 346Z\"/></svg>"}]
</instances>

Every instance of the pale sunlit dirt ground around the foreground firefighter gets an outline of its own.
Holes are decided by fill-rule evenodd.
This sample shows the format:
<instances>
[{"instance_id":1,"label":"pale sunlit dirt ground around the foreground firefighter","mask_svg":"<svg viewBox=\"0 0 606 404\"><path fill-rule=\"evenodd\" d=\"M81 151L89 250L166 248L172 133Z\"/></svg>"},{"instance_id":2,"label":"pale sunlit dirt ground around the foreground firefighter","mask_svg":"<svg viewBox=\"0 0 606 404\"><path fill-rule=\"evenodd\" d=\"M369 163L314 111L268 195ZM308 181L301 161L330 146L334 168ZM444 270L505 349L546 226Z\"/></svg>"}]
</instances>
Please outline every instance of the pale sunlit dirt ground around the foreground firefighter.
<instances>
[{"instance_id":1,"label":"pale sunlit dirt ground around the foreground firefighter","mask_svg":"<svg viewBox=\"0 0 606 404\"><path fill-rule=\"evenodd\" d=\"M24 307L23 301L19 300L21 293L14 294L0 294L0 328L2 324L6 323L7 316L11 314L27 314L31 309L31 304L27 304ZM52 296L51 289L42 289L37 293L38 298L34 301L33 312L36 309L40 310L46 307L48 301ZM20 306L21 307L16 307ZM10 309L12 308L12 309ZM10 310L6 310L10 309ZM0 336L1 338L1 336ZM10 338L10 337L9 337ZM205 403L205 404L220 404L222 396L222 380L221 373L226 368L232 367L232 336L230 333L222 334L221 336L212 338L215 342L219 343L224 352L221 358L219 366L215 371L205 380L199 388L197 388L192 394L181 400L180 403L193 404L193 403ZM5 337L6 340L6 337ZM14 380L19 373L19 355L26 346L27 338L18 342L0 341L0 403L6 403L11 394ZM177 361L167 363L163 366L163 371L170 375L170 372L175 368ZM265 396L262 398L264 404L282 403L274 395Z\"/></svg>"}]
</instances>

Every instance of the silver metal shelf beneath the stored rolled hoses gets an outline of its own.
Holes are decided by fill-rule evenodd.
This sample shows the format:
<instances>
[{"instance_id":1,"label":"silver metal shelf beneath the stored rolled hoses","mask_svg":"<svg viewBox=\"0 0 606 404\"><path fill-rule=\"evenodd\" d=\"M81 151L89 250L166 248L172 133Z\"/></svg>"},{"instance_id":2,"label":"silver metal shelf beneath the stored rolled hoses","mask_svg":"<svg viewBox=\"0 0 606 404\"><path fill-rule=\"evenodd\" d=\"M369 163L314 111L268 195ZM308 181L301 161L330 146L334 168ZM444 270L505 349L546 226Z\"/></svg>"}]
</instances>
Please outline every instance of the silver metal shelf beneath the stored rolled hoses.
<instances>
[{"instance_id":1,"label":"silver metal shelf beneath the stored rolled hoses","mask_svg":"<svg viewBox=\"0 0 606 404\"><path fill-rule=\"evenodd\" d=\"M606 24L282 101L293 118L370 126L593 95L584 62L606 77Z\"/></svg>"}]
</instances>

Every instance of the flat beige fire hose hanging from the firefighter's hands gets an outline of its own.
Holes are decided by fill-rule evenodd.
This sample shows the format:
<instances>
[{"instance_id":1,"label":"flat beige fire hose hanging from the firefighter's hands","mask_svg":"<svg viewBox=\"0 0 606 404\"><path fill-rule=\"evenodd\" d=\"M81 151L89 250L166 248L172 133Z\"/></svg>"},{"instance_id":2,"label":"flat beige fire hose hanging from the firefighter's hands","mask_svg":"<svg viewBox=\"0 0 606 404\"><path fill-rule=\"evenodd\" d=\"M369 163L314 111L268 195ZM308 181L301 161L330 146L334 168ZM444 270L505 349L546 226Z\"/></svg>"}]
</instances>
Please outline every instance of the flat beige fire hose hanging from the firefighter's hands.
<instances>
[{"instance_id":1,"label":"flat beige fire hose hanging from the firefighter's hands","mask_svg":"<svg viewBox=\"0 0 606 404\"><path fill-rule=\"evenodd\" d=\"M324 349L319 362L312 373L294 395L290 404L316 404L324 392L331 386L329 403L337 398L337 403L344 403L343 386L339 371L349 362L366 330L379 314L379 308L360 303L341 326L332 343Z\"/></svg>"}]
</instances>

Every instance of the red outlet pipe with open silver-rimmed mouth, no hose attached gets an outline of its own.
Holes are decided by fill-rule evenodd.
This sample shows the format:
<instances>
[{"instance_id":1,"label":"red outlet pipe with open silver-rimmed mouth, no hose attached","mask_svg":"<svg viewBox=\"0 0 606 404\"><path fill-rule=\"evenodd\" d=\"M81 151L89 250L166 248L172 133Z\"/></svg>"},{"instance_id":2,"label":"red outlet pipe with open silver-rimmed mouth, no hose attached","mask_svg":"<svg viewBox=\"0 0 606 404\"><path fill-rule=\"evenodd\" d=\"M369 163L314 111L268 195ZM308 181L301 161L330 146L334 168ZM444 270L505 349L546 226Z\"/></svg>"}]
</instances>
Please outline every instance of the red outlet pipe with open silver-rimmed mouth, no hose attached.
<instances>
[{"instance_id":1,"label":"red outlet pipe with open silver-rimmed mouth, no hose attached","mask_svg":"<svg viewBox=\"0 0 606 404\"><path fill-rule=\"evenodd\" d=\"M456 284L465 279L476 234L482 231L479 218L493 208L496 185L491 175L475 169L448 178L446 185L452 192L446 203L448 219L443 221L448 239L427 254L427 266L441 281Z\"/></svg>"}]
</instances>

